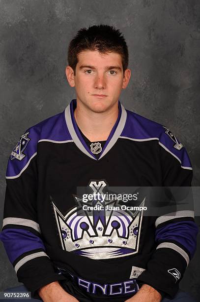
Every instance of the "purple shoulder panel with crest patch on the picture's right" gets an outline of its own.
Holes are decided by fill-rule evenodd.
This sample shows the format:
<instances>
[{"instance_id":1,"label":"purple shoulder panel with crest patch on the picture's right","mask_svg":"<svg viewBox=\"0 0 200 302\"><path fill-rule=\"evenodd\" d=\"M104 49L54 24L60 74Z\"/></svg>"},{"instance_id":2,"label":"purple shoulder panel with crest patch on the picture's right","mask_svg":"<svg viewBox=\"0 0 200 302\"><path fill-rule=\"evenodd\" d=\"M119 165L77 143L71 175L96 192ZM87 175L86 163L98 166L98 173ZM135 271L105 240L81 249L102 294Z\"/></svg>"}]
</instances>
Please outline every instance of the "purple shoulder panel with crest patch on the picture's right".
<instances>
[{"instance_id":1,"label":"purple shoulder panel with crest patch on the picture's right","mask_svg":"<svg viewBox=\"0 0 200 302\"><path fill-rule=\"evenodd\" d=\"M127 110L126 124L120 136L139 141L157 139L159 144L175 156L183 167L191 168L191 162L185 148L169 128L157 122Z\"/></svg>"}]
</instances>

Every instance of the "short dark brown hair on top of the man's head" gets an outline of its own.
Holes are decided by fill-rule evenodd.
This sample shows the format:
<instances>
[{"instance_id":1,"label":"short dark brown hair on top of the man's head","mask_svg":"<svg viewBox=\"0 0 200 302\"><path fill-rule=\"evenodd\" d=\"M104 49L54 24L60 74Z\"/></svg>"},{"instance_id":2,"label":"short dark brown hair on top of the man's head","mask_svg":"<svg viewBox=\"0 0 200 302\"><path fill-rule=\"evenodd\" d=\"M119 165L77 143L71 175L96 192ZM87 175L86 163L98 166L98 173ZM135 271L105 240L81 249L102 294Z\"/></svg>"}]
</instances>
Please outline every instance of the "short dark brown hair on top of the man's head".
<instances>
[{"instance_id":1,"label":"short dark brown hair on top of the man's head","mask_svg":"<svg viewBox=\"0 0 200 302\"><path fill-rule=\"evenodd\" d=\"M123 72L128 67L128 47L122 33L109 25L94 25L82 28L68 47L68 64L76 74L78 54L84 50L98 50L100 53L116 52L121 55Z\"/></svg>"}]
</instances>

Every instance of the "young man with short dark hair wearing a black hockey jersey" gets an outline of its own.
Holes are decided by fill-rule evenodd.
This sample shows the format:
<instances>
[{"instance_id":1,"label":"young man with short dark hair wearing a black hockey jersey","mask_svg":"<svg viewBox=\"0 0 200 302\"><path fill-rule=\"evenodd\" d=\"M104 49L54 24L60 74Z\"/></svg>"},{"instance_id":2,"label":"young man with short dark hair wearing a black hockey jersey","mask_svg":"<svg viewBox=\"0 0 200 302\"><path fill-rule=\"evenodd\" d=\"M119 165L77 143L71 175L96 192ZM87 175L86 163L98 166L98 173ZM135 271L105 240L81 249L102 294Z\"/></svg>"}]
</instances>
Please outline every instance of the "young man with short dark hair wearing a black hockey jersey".
<instances>
[{"instance_id":1,"label":"young man with short dark hair wearing a black hockey jersey","mask_svg":"<svg viewBox=\"0 0 200 302\"><path fill-rule=\"evenodd\" d=\"M131 75L119 30L81 29L68 62L77 99L29 128L10 155L1 232L9 260L45 302L173 298L196 249L194 212L147 217L101 194L111 186L191 186L187 152L168 128L118 101ZM78 187L92 194L92 209Z\"/></svg>"}]
</instances>

